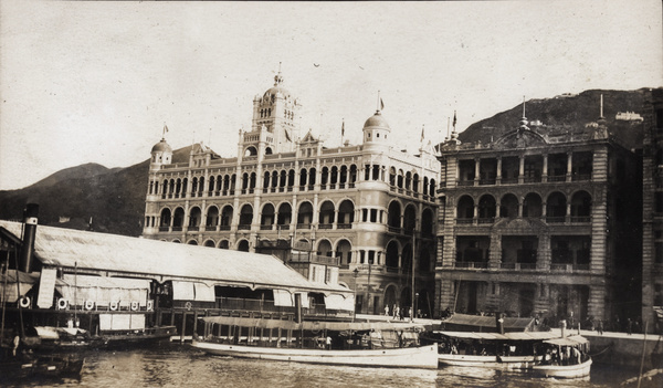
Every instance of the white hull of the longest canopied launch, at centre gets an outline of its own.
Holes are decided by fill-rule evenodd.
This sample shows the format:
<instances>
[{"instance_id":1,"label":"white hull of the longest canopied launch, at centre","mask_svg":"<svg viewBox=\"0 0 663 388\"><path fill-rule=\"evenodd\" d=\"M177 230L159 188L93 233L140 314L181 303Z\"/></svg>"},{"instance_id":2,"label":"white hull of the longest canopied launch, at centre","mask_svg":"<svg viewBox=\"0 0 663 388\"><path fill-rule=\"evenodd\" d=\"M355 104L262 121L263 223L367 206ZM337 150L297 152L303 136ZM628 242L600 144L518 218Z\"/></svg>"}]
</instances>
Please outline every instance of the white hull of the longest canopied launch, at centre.
<instances>
[{"instance_id":1,"label":"white hull of the longest canopied launch, at centre","mask_svg":"<svg viewBox=\"0 0 663 388\"><path fill-rule=\"evenodd\" d=\"M194 348L219 356L326 365L391 368L438 368L438 345L393 349L326 350L192 343Z\"/></svg>"}]
</instances>

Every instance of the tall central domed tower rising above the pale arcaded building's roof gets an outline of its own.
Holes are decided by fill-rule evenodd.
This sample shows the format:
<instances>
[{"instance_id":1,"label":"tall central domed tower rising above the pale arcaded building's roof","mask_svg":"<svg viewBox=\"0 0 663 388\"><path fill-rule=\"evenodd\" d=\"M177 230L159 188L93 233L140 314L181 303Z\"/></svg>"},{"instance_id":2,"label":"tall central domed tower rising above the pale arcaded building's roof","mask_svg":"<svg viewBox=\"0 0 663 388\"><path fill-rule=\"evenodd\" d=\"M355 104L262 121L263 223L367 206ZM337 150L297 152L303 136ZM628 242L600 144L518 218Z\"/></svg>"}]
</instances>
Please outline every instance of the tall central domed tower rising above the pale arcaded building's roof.
<instances>
[{"instance_id":1,"label":"tall central domed tower rising above the pale arcaded building's roof","mask_svg":"<svg viewBox=\"0 0 663 388\"><path fill-rule=\"evenodd\" d=\"M265 151L269 154L293 151L297 140L295 122L302 105L282 84L283 76L278 71L274 76L274 86L253 98L251 132L267 132Z\"/></svg>"}]
</instances>

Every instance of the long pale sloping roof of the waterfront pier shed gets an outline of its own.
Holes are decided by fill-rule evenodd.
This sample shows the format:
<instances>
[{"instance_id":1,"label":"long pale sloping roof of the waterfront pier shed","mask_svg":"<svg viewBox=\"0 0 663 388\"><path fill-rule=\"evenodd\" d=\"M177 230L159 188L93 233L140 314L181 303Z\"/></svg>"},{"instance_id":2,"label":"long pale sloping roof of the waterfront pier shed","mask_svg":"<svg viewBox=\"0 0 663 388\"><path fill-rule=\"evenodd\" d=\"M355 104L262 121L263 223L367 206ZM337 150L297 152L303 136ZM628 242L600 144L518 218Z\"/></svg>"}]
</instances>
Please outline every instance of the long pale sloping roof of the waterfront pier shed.
<instances>
[{"instance_id":1,"label":"long pale sloping roof of the waterfront pier shed","mask_svg":"<svg viewBox=\"0 0 663 388\"><path fill-rule=\"evenodd\" d=\"M19 222L0 220L0 227L21 234ZM272 255L117 234L39 226L34 254L49 266L349 293L312 283Z\"/></svg>"}]
</instances>

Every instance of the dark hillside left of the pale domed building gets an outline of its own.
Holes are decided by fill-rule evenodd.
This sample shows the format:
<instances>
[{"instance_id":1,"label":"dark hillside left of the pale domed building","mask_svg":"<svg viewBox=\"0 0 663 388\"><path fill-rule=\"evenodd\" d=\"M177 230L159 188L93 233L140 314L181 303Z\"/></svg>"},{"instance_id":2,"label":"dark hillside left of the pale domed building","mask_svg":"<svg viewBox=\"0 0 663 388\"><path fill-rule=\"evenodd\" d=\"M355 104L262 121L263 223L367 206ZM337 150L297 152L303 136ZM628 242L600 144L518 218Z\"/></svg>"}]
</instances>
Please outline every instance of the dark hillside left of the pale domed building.
<instances>
[{"instance_id":1,"label":"dark hillside left of the pale domed building","mask_svg":"<svg viewBox=\"0 0 663 388\"><path fill-rule=\"evenodd\" d=\"M189 160L191 147L173 153ZM40 224L140 235L149 159L126 168L95 164L67 168L19 190L0 191L0 219L21 220L28 202L40 205Z\"/></svg>"}]
</instances>

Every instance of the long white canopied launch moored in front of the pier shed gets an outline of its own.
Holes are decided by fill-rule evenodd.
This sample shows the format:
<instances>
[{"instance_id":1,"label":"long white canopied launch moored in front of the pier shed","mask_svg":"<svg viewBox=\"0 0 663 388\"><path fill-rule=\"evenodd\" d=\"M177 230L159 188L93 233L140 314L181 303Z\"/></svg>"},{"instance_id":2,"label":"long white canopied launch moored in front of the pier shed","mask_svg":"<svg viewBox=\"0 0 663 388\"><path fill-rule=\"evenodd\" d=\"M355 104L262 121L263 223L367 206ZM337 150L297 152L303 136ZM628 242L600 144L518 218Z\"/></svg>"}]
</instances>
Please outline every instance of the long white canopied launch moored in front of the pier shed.
<instances>
[{"instance_id":1,"label":"long white canopied launch moored in front of the pier shed","mask_svg":"<svg viewBox=\"0 0 663 388\"><path fill-rule=\"evenodd\" d=\"M302 322L204 317L192 346L209 354L326 365L438 368L438 345L423 327L400 323Z\"/></svg>"}]
</instances>

